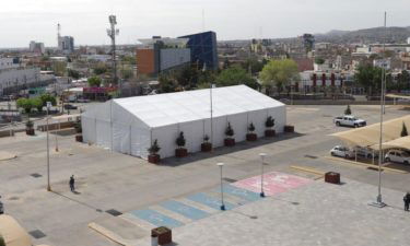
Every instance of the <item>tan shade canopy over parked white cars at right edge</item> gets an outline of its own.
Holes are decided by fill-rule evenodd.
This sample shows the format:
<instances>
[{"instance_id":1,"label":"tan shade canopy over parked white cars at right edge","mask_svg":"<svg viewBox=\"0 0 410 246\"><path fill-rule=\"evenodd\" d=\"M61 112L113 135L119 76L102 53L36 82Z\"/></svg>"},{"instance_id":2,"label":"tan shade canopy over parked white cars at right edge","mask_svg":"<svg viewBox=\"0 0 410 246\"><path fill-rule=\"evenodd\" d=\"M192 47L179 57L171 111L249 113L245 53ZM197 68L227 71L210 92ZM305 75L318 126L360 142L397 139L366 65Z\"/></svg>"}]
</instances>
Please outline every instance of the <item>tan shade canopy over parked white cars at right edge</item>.
<instances>
[{"instance_id":1,"label":"tan shade canopy over parked white cars at right edge","mask_svg":"<svg viewBox=\"0 0 410 246\"><path fill-rule=\"evenodd\" d=\"M400 138L402 124L410 126L410 116L403 116L387 120L383 124L383 141L391 141ZM339 138L349 145L372 147L379 142L380 124L373 124L367 127L337 132L331 136Z\"/></svg>"}]
</instances>

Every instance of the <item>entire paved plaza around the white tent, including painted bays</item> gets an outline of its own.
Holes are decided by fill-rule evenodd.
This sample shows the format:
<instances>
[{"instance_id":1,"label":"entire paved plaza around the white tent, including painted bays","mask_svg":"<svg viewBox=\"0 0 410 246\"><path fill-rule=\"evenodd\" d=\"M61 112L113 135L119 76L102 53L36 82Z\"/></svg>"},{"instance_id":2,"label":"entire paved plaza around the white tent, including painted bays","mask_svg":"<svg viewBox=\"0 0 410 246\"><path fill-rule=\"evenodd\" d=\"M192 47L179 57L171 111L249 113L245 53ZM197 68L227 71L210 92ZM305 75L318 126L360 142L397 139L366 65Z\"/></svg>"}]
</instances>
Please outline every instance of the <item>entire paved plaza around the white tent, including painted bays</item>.
<instances>
[{"instance_id":1,"label":"entire paved plaza around the white tent, including painted bays","mask_svg":"<svg viewBox=\"0 0 410 246\"><path fill-rule=\"evenodd\" d=\"M149 230L159 225L155 219L164 219L162 215L172 219L169 225L177 225L173 232L178 245L253 245L246 239L254 239L254 245L329 245L329 241L338 245L337 241L347 235L352 237L352 245L366 245L363 242L367 237L374 245L403 245L409 238L402 226L409 225L410 214L401 207L402 195L410 189L410 168L395 165L400 172L384 171L384 199L391 207L368 207L367 201L377 195L377 172L329 159L329 150L340 144L329 134L348 130L332 124L332 117L344 108L290 106L288 122L295 126L296 133L190 154L183 160L167 159L161 165L74 142L73 136L59 136L56 152L56 138L50 134L52 192L46 191L46 134L17 133L0 139L1 151L16 156L0 161L0 195L7 213L28 232L39 230L45 234L34 243L51 246L118 245L89 225L128 238L130 245L139 241L142 244L138 245L149 245ZM395 106L386 109L386 119L409 113ZM352 110L368 124L378 120L377 106L352 106ZM260 199L257 177L261 152L268 154L266 173L301 179L290 181L294 185L291 187L267 187L272 196ZM219 162L225 163L230 209L225 212L210 207L220 201ZM328 171L340 173L345 184L324 184L319 173ZM71 175L77 179L75 194L68 186ZM272 176L272 180L280 179ZM209 233L200 233L207 227ZM383 236L396 243L386 243Z\"/></svg>"}]
</instances>

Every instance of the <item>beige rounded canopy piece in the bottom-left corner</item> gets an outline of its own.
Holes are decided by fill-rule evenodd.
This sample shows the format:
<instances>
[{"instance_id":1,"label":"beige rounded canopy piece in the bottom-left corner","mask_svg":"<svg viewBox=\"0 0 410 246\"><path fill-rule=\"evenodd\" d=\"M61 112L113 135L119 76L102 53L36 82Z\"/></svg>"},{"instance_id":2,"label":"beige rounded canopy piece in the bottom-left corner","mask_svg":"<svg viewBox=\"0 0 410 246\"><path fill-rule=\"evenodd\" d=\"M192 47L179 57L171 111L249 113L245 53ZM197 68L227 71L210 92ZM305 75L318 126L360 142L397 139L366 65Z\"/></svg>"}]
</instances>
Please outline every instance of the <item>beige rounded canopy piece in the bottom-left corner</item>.
<instances>
[{"instance_id":1,"label":"beige rounded canopy piece in the bottom-left corner","mask_svg":"<svg viewBox=\"0 0 410 246\"><path fill-rule=\"evenodd\" d=\"M7 246L32 246L30 235L12 216L0 215L0 235Z\"/></svg>"}]
</instances>

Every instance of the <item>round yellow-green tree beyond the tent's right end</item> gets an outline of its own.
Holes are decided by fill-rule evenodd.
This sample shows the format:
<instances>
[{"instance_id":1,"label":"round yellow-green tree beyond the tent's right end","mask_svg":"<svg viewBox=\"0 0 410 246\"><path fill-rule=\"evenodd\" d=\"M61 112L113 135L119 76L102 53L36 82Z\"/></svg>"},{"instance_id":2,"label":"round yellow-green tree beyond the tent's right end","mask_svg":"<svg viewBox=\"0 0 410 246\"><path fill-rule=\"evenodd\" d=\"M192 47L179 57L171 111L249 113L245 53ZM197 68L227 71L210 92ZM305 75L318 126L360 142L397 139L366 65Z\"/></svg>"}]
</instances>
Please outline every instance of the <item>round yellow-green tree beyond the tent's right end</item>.
<instances>
[{"instance_id":1,"label":"round yellow-green tree beyond the tent's right end","mask_svg":"<svg viewBox=\"0 0 410 246\"><path fill-rule=\"evenodd\" d=\"M259 78L265 86L277 86L281 92L291 82L300 81L297 63L290 59L271 60L263 67Z\"/></svg>"}]
</instances>

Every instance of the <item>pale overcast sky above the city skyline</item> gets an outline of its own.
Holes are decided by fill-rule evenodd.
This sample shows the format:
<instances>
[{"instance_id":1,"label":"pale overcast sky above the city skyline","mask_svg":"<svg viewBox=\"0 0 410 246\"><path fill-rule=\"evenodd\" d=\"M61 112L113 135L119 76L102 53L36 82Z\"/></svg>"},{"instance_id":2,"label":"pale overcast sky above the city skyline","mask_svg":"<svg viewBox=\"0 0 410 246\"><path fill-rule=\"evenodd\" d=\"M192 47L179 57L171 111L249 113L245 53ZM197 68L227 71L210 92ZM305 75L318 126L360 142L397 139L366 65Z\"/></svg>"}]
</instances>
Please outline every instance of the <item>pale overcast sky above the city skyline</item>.
<instances>
[{"instance_id":1,"label":"pale overcast sky above the city skyline","mask_svg":"<svg viewBox=\"0 0 410 246\"><path fill-rule=\"evenodd\" d=\"M57 46L61 34L75 45L108 45L108 15L117 15L118 44L153 35L202 31L218 39L295 37L330 30L410 26L409 0L0 0L0 48L31 40ZM202 17L204 16L204 17Z\"/></svg>"}]
</instances>

